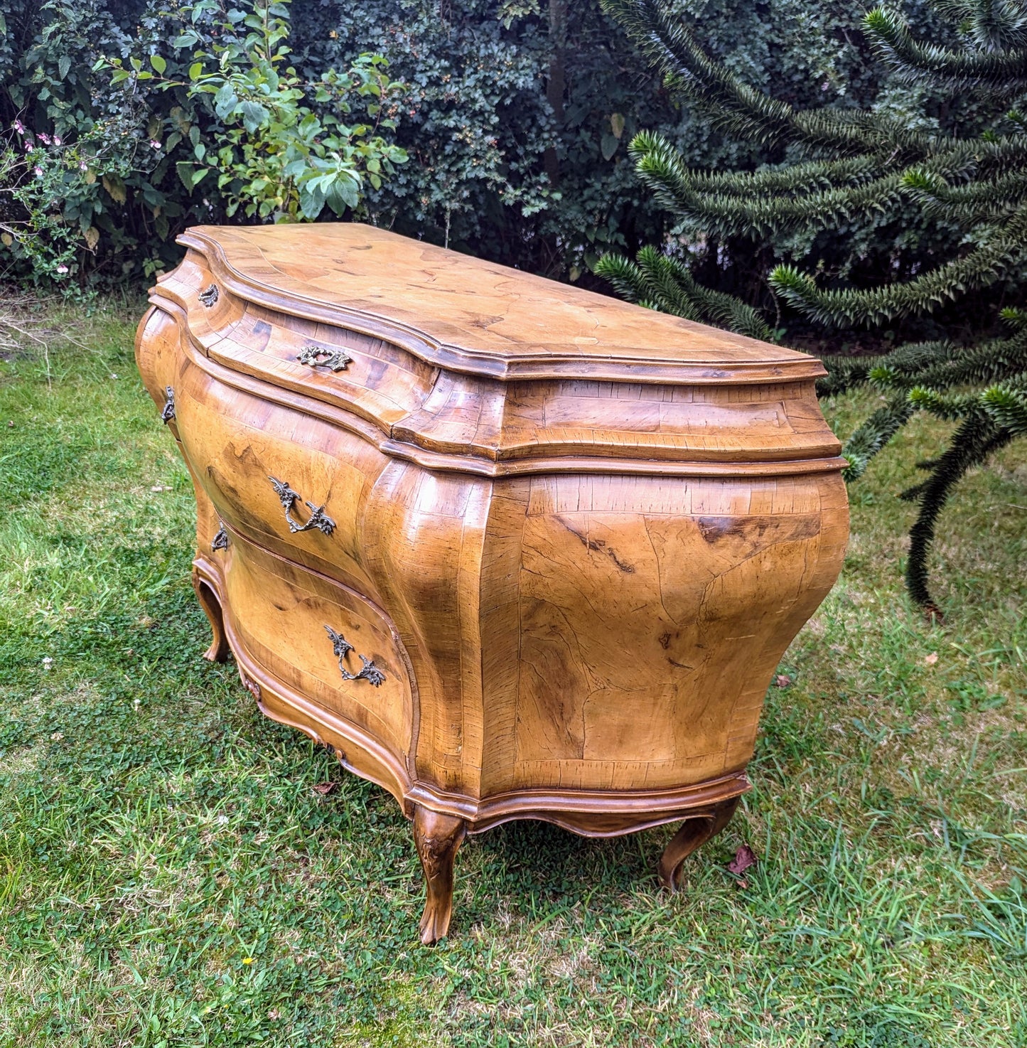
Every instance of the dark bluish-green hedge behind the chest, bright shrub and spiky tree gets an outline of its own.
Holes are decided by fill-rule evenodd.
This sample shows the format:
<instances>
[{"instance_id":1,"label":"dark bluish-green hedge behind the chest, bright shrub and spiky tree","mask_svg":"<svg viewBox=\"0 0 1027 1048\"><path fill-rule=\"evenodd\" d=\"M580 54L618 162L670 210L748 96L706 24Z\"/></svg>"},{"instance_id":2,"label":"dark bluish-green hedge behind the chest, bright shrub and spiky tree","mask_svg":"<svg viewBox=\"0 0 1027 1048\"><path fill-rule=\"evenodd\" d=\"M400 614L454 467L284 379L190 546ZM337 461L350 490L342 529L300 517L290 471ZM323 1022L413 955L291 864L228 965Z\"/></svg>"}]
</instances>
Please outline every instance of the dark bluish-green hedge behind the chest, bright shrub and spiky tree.
<instances>
[{"instance_id":1,"label":"dark bluish-green hedge behind the chest, bright shrub and spiky tree","mask_svg":"<svg viewBox=\"0 0 1027 1048\"><path fill-rule=\"evenodd\" d=\"M860 12L840 0L680 6L699 19L720 58L787 101L861 105L880 87L880 68L856 31ZM37 133L101 135L116 161L108 184L83 182L68 194L67 220L100 232L95 247L81 252L80 281L147 279L174 263L178 231L224 220L224 201L206 188L190 193L175 170L193 158L192 126L211 118L181 94L136 85L127 95L111 87L109 72L92 71L104 56L160 53L170 60L168 75L184 78L191 52L176 58L171 46L180 7L0 0L3 126L20 116ZM914 4L914 16L919 9ZM370 218L397 232L602 287L588 274L598 255L633 253L670 227L627 157L636 131L662 131L695 165L744 168L760 159L753 147L679 109L597 0L304 2L291 14L301 71L318 77L372 50L410 87L396 138L411 162L369 200ZM159 155L147 151L149 139L161 143ZM860 243L845 246L848 235L836 232L835 253L858 255ZM726 245L707 254L728 284L762 280L766 269L751 250ZM7 271L19 272L17 265Z\"/></svg>"}]
</instances>

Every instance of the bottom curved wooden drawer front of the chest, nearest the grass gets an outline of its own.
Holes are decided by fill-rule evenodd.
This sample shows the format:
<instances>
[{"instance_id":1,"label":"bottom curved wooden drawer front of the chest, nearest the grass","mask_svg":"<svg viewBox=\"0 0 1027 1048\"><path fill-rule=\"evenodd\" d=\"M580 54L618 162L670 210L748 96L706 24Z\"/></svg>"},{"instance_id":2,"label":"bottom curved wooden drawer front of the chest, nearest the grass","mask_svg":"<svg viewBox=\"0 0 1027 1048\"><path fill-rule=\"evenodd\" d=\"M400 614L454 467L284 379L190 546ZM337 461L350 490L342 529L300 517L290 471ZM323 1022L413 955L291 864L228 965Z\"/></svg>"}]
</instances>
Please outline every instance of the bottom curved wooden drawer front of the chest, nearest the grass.
<instances>
[{"instance_id":1,"label":"bottom curved wooden drawer front of the chest, nearest the grass","mask_svg":"<svg viewBox=\"0 0 1027 1048\"><path fill-rule=\"evenodd\" d=\"M232 625L248 654L406 762L415 724L412 689L405 655L381 612L241 536L232 537L223 571Z\"/></svg>"}]
</instances>

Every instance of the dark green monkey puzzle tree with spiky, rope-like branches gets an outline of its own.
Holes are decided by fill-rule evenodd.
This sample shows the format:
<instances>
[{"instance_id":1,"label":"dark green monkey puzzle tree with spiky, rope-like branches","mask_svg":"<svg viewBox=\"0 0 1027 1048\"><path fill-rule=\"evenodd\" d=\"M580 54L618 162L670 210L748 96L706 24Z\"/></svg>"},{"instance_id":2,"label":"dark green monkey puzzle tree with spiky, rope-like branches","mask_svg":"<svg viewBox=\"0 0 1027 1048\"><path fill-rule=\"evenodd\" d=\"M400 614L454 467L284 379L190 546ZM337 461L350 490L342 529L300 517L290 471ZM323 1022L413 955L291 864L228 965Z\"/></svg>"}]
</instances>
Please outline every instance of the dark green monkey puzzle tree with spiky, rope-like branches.
<instances>
[{"instance_id":1,"label":"dark green monkey puzzle tree with spiky, rope-like branches","mask_svg":"<svg viewBox=\"0 0 1027 1048\"><path fill-rule=\"evenodd\" d=\"M779 306L839 341L859 328L942 314L925 341L873 356L828 356L820 384L822 394L871 384L887 396L846 444L850 480L917 410L959 423L942 455L918 463L926 479L901 496L919 504L908 589L928 614L940 615L927 589L938 516L967 470L1027 433L1027 310L1019 305L1027 278L1027 117L1015 105L1027 93L1027 2L937 0L937 15L947 20L939 23L945 45L918 41L894 9L866 16L891 85L926 86L952 101L956 116L949 113L947 125L903 118L887 106L795 109L743 83L660 0L604 6L714 124L782 158L755 172L706 173L690 169L665 138L638 134L631 143L638 175L683 230L715 241L772 243L778 258L797 255L807 263L816 262L810 245L817 233L872 225L911 206L924 228L947 234L900 277L870 286L836 278L835 286L822 287L791 261L768 277ZM692 258L672 241L642 248L634 261L607 255L596 271L654 309L758 339L780 334L759 304L700 283ZM965 316L953 318L950 304L965 304L971 292L993 300L1004 331L986 323L967 331ZM1003 307L1003 300L1013 304Z\"/></svg>"}]
</instances>

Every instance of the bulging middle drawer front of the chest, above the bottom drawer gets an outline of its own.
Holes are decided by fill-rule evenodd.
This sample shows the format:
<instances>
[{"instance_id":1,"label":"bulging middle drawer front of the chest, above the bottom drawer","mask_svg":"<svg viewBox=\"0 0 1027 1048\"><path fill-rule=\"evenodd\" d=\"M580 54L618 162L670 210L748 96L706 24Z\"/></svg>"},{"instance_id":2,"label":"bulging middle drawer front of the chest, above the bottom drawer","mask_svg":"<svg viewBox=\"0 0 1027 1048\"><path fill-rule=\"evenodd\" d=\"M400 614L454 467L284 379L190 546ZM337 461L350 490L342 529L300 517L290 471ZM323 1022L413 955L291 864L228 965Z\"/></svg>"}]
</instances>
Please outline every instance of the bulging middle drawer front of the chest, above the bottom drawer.
<instances>
[{"instance_id":1,"label":"bulging middle drawer front of the chest, above the bottom drawer","mask_svg":"<svg viewBox=\"0 0 1027 1048\"><path fill-rule=\"evenodd\" d=\"M376 596L360 517L388 459L359 437L184 363L178 434L221 519L272 551Z\"/></svg>"}]
</instances>

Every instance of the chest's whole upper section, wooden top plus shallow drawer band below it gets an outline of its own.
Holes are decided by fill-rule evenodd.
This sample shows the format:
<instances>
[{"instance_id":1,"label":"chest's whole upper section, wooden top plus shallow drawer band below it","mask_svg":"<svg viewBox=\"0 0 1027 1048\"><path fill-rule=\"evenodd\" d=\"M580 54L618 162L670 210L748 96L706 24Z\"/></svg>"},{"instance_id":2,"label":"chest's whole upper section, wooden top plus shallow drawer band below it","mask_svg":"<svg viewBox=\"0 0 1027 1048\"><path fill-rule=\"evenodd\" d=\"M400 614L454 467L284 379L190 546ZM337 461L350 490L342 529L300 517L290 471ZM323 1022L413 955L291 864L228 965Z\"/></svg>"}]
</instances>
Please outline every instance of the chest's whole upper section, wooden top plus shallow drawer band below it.
<instances>
[{"instance_id":1,"label":"chest's whole upper section, wooden top plus shallow drawer band below it","mask_svg":"<svg viewBox=\"0 0 1027 1048\"><path fill-rule=\"evenodd\" d=\"M179 240L150 299L198 366L387 455L496 477L845 464L804 353L367 225Z\"/></svg>"}]
</instances>

